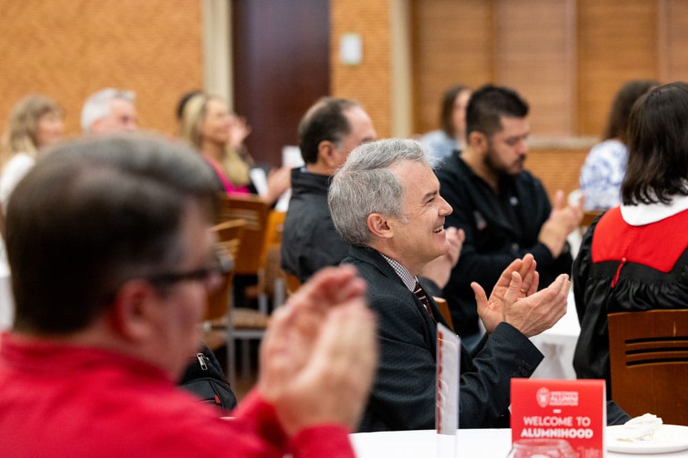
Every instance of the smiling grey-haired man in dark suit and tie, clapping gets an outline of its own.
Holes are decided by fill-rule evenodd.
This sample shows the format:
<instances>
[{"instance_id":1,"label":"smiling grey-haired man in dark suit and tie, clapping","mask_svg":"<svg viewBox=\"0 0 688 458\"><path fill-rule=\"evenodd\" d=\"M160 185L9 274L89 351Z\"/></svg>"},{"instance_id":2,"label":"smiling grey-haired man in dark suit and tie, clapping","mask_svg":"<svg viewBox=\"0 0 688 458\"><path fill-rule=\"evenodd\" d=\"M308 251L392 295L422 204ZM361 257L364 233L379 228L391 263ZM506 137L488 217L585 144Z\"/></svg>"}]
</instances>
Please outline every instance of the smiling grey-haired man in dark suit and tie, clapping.
<instances>
[{"instance_id":1,"label":"smiling grey-haired man in dark suit and tie, clapping","mask_svg":"<svg viewBox=\"0 0 688 458\"><path fill-rule=\"evenodd\" d=\"M380 362L361 431L435 424L436 322L444 320L431 295L419 297L418 274L449 249L444 222L452 209L439 191L427 151L400 139L358 146L330 185L334 225L352 245L344 262L358 268L378 314ZM461 428L508 425L510 380L530 376L542 359L528 337L566 312L568 275L536 288L531 255L508 266L489 300L475 284L489 336L472 356L462 352Z\"/></svg>"}]
</instances>

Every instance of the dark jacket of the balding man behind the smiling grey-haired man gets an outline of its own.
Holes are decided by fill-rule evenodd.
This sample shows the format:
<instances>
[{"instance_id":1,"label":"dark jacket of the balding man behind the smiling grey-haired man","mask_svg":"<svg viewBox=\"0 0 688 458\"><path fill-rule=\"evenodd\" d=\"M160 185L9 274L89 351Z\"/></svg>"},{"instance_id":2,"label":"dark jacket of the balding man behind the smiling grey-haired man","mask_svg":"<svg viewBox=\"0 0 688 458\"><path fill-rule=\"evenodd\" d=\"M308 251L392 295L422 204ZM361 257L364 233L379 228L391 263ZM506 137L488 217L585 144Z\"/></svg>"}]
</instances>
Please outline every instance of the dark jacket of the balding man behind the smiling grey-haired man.
<instances>
[{"instance_id":1,"label":"dark jacket of the balding man behind the smiling grey-haired man","mask_svg":"<svg viewBox=\"0 0 688 458\"><path fill-rule=\"evenodd\" d=\"M327 207L330 176L292 170L292 198L284 220L281 266L305 282L323 267L338 266L348 251Z\"/></svg>"}]
</instances>

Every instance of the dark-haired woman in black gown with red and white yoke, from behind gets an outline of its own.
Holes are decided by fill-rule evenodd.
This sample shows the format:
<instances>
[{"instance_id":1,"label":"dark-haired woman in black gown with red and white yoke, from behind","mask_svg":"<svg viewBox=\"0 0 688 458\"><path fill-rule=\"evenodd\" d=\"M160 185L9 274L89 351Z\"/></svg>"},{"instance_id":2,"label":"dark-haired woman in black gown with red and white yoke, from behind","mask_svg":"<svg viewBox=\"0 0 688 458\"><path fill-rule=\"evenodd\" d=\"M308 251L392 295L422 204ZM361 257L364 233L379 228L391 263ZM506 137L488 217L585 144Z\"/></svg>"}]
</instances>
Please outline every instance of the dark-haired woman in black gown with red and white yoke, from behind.
<instances>
[{"instance_id":1,"label":"dark-haired woman in black gown with red and white yoke, from behind","mask_svg":"<svg viewBox=\"0 0 688 458\"><path fill-rule=\"evenodd\" d=\"M627 130L623 203L592 223L573 264L579 378L610 390L607 314L688 307L688 84L651 89Z\"/></svg>"}]
</instances>

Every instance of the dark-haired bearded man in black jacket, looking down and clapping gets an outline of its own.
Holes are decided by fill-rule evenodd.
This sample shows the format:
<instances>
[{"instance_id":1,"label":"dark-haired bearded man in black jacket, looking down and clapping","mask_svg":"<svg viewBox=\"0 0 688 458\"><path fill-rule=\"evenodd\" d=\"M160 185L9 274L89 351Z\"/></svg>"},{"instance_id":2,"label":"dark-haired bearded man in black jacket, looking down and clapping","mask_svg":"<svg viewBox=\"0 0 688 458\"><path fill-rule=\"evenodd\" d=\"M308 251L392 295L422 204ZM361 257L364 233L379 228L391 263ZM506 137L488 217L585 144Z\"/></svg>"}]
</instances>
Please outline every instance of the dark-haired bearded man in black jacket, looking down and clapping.
<instances>
[{"instance_id":1,"label":"dark-haired bearded man in black jacket, looking down and clapping","mask_svg":"<svg viewBox=\"0 0 688 458\"><path fill-rule=\"evenodd\" d=\"M438 170L442 196L454 208L447 225L466 242L442 297L467 346L480 340L471 282L489 288L515 257L532 253L540 284L571 271L566 237L579 225L582 203L552 208L542 183L524 170L530 134L528 104L512 89L484 86L466 108L466 149Z\"/></svg>"}]
</instances>

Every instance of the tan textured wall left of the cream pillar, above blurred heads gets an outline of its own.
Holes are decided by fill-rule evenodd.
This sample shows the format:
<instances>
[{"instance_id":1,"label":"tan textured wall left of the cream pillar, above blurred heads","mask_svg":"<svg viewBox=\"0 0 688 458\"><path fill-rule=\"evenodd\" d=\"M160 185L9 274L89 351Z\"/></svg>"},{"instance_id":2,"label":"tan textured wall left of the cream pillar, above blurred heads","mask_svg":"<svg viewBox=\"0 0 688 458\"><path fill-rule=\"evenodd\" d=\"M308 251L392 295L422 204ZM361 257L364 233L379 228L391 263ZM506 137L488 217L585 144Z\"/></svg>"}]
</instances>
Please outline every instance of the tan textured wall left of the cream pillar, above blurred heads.
<instances>
[{"instance_id":1,"label":"tan textured wall left of the cream pillar, above blurred heads","mask_svg":"<svg viewBox=\"0 0 688 458\"><path fill-rule=\"evenodd\" d=\"M85 98L136 92L140 126L176 130L184 91L202 86L201 0L0 0L0 119L23 95L45 93L80 133Z\"/></svg>"}]
</instances>

